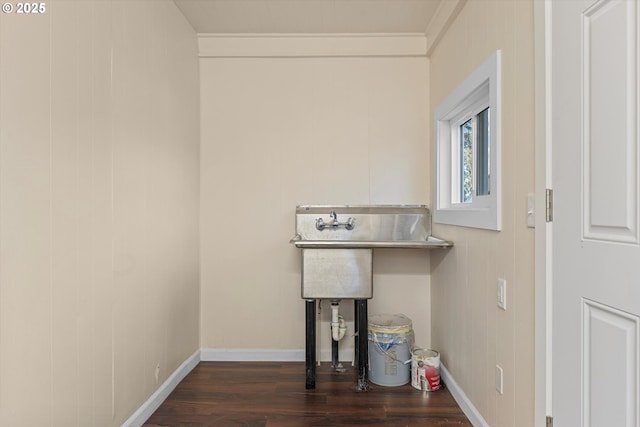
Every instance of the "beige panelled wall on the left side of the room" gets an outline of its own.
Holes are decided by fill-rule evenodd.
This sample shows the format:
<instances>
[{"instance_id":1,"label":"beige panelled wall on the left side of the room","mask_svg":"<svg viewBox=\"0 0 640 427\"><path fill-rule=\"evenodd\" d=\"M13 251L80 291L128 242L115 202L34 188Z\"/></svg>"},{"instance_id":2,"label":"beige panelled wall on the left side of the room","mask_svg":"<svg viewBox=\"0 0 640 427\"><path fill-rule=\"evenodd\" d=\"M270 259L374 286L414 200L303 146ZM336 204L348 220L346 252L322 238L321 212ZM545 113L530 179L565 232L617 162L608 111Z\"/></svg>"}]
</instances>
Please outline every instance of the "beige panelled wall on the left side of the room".
<instances>
[{"instance_id":1,"label":"beige panelled wall on the left side of the room","mask_svg":"<svg viewBox=\"0 0 640 427\"><path fill-rule=\"evenodd\" d=\"M0 16L0 425L116 426L199 348L196 37L46 7Z\"/></svg>"}]
</instances>

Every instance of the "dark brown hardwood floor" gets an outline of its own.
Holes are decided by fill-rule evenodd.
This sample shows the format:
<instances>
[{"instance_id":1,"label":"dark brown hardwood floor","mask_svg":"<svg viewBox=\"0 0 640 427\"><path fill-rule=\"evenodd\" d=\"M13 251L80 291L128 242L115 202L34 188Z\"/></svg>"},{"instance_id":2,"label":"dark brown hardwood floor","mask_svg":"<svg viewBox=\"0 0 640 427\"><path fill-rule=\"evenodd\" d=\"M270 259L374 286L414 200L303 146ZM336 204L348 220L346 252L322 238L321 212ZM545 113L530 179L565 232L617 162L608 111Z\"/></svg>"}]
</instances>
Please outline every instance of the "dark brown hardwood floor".
<instances>
[{"instance_id":1,"label":"dark brown hardwood floor","mask_svg":"<svg viewBox=\"0 0 640 427\"><path fill-rule=\"evenodd\" d=\"M345 368L323 363L307 391L301 362L201 362L144 425L471 426L446 388L371 384L361 392L357 373Z\"/></svg>"}]
</instances>

